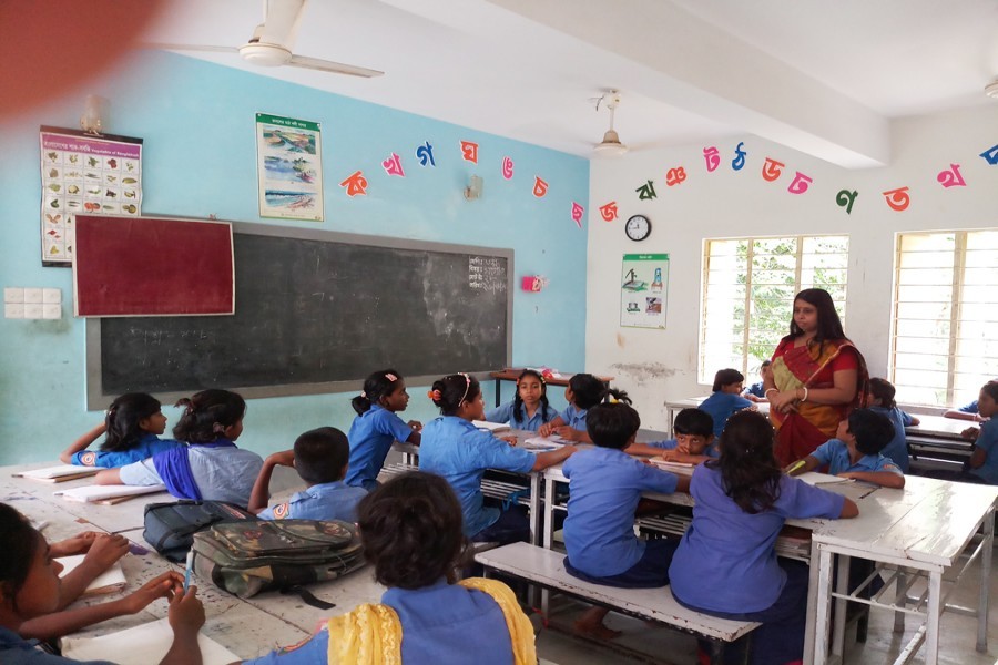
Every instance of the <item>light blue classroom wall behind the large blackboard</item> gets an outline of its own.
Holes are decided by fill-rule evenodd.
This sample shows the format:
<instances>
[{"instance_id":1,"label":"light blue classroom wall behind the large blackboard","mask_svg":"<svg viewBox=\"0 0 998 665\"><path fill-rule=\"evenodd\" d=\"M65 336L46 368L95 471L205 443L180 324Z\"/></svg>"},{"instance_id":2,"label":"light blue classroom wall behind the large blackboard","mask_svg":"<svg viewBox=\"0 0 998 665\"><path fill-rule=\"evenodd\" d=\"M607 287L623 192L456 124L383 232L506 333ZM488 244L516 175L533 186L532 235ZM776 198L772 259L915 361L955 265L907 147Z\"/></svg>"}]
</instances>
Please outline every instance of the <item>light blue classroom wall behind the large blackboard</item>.
<instances>
[{"instance_id":1,"label":"light blue classroom wall behind the large blackboard","mask_svg":"<svg viewBox=\"0 0 998 665\"><path fill-rule=\"evenodd\" d=\"M79 126L88 93L111 100L106 131L145 140L143 214L512 247L518 284L521 275L549 278L542 293L512 295L513 364L582 367L588 237L571 206L588 207L587 160L181 55L142 52L84 91L0 120L0 286L58 287L63 296L60 320L0 319L0 464L52 460L102 419L84 408L84 324L72 317L71 272L42 268L39 249L39 125ZM322 123L324 223L258 217L256 112ZM461 140L479 143L477 165L461 161ZM415 160L424 141L435 146L436 168ZM391 152L403 156L405 178L389 178L381 168ZM513 160L509 181L501 175L503 156ZM368 195L349 198L338 183L358 168L368 176ZM462 192L472 173L485 181L483 196L467 202ZM543 198L533 196L534 175L550 184ZM373 279L379 269L391 267L373 266ZM397 369L405 374L404 358ZM491 403L491 386L486 390ZM409 392L406 416L431 419L426 387ZM265 454L313 427L346 430L350 397L251 400L240 443ZM563 403L560 395L553 401ZM164 412L172 427L177 410Z\"/></svg>"}]
</instances>

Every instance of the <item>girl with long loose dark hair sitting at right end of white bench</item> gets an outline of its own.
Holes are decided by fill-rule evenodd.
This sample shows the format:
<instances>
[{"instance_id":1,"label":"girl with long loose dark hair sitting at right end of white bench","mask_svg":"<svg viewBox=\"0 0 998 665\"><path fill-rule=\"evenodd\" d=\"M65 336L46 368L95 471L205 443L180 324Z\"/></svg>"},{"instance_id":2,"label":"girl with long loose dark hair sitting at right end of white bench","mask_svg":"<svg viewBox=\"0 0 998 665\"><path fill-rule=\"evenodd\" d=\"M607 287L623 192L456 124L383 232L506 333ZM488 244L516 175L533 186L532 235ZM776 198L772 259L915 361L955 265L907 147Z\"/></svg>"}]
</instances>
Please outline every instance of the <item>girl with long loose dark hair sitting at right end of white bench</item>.
<instances>
[{"instance_id":1,"label":"girl with long loose dark hair sitting at right end of white bench","mask_svg":"<svg viewBox=\"0 0 998 665\"><path fill-rule=\"evenodd\" d=\"M669 580L681 604L725 618L757 621L752 665L784 665L804 655L807 566L777 560L787 518L854 518L851 500L785 475L773 454L775 432L756 411L731 417L721 457L690 481L693 523L672 557Z\"/></svg>"}]
</instances>

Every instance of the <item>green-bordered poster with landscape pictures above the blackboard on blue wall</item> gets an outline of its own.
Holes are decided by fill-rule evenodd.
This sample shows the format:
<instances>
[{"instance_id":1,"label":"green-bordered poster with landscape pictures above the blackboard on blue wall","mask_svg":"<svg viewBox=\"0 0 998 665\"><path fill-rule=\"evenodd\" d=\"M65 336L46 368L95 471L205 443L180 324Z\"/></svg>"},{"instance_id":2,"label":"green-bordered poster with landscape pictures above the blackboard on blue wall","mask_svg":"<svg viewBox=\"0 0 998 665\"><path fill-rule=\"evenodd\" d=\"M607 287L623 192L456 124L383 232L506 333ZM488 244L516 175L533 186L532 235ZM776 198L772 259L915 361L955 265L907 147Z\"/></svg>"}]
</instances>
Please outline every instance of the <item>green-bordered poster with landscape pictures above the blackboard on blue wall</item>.
<instances>
[{"instance_id":1,"label":"green-bordered poster with landscape pictures above the blackboard on blue wall","mask_svg":"<svg viewBox=\"0 0 998 665\"><path fill-rule=\"evenodd\" d=\"M319 123L257 113L256 172L261 217L323 221Z\"/></svg>"}]
</instances>

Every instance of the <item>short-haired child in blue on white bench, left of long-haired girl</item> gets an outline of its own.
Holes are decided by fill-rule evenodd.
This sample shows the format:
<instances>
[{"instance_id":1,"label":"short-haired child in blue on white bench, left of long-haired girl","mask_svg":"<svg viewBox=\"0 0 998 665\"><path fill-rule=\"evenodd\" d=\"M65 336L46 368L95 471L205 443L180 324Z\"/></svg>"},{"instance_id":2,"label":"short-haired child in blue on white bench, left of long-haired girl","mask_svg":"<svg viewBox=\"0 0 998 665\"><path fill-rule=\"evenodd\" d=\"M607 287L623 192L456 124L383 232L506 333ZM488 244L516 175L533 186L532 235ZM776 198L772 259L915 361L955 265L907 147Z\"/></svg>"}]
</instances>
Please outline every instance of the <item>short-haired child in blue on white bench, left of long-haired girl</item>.
<instances>
[{"instance_id":1,"label":"short-haired child in blue on white bench, left of long-haired girl","mask_svg":"<svg viewBox=\"0 0 998 665\"><path fill-rule=\"evenodd\" d=\"M676 477L628 456L641 418L628 403L597 405L585 417L597 448L581 450L564 462L570 480L564 520L564 570L576 577L627 589L669 584L675 540L644 541L634 535L634 511L641 492L686 491L690 479ZM603 625L609 610L592 607L576 622L576 631L601 640L620 635Z\"/></svg>"}]
</instances>

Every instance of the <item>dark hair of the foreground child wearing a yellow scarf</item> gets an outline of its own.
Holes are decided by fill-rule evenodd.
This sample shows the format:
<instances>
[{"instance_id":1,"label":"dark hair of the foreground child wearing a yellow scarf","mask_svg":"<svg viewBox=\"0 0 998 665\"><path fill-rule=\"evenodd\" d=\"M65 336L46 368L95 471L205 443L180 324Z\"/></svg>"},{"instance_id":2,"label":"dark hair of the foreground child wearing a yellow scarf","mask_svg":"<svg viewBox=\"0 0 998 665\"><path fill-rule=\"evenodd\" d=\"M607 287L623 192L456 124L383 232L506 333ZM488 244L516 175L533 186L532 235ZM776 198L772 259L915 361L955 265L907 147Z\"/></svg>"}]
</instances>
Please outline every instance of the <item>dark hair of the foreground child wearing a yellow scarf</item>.
<instances>
[{"instance_id":1,"label":"dark hair of the foreground child wearing a yellow scarf","mask_svg":"<svg viewBox=\"0 0 998 665\"><path fill-rule=\"evenodd\" d=\"M385 586L421 589L455 569L465 545L461 504L446 480L410 471L365 497L357 508L364 557Z\"/></svg>"}]
</instances>

